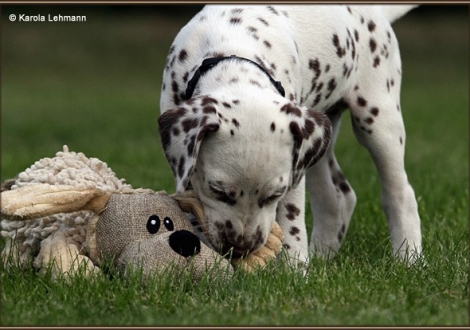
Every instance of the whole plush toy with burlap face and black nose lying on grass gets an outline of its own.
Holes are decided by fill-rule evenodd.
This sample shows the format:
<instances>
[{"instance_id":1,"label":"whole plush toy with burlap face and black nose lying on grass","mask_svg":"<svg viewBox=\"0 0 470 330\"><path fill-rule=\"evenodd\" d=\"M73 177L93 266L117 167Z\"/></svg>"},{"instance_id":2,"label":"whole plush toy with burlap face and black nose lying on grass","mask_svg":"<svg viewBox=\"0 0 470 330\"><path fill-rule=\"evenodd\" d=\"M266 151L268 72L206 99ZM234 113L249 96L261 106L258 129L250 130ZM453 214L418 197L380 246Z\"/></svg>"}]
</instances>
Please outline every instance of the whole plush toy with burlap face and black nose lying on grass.
<instances>
[{"instance_id":1,"label":"whole plush toy with burlap face and black nose lying on grass","mask_svg":"<svg viewBox=\"0 0 470 330\"><path fill-rule=\"evenodd\" d=\"M11 256L27 266L33 256L41 270L52 263L54 278L74 274L79 265L99 272L106 259L122 274L137 268L145 278L169 267L178 274L191 271L196 281L215 268L233 272L189 221L190 213L205 227L203 207L191 192L133 189L106 163L67 146L2 184L1 213L3 260ZM246 271L263 267L280 252L282 240L276 226L265 247L232 264Z\"/></svg>"}]
</instances>

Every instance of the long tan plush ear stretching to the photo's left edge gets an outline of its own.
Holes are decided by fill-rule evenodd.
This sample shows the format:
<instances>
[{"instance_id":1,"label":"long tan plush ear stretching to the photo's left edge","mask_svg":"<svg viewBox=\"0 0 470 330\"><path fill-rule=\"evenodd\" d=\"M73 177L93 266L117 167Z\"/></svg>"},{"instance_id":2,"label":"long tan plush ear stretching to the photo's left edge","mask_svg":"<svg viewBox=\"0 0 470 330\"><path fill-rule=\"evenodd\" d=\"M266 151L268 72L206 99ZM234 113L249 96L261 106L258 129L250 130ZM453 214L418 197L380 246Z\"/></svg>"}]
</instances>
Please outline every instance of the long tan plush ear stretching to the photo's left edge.
<instances>
[{"instance_id":1,"label":"long tan plush ear stretching to the photo's left edge","mask_svg":"<svg viewBox=\"0 0 470 330\"><path fill-rule=\"evenodd\" d=\"M106 208L110 196L99 189L36 184L2 191L1 214L11 220L30 220L81 210L99 214Z\"/></svg>"}]
</instances>

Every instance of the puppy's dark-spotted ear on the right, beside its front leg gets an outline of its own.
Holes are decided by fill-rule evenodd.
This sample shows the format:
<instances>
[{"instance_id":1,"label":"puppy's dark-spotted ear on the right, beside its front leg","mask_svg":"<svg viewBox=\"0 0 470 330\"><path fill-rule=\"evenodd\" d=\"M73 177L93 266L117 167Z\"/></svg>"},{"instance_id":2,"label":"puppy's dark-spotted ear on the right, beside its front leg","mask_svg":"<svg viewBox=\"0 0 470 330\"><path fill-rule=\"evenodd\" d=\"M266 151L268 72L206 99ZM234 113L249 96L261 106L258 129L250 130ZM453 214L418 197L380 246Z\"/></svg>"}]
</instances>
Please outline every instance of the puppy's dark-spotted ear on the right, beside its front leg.
<instances>
[{"instance_id":1,"label":"puppy's dark-spotted ear on the right, beside its front leg","mask_svg":"<svg viewBox=\"0 0 470 330\"><path fill-rule=\"evenodd\" d=\"M292 116L289 124L294 137L291 184L295 188L307 170L325 154L332 136L332 126L330 119L322 112L292 103L283 109Z\"/></svg>"}]
</instances>

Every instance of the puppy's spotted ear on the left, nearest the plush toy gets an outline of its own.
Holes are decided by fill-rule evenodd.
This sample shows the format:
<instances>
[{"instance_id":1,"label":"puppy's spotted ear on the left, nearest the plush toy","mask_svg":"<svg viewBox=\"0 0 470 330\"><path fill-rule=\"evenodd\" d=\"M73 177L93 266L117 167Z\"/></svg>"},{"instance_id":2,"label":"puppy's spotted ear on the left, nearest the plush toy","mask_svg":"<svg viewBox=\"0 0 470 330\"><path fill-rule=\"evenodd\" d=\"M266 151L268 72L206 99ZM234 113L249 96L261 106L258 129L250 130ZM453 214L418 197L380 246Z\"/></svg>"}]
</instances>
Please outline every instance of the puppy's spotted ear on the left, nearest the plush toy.
<instances>
[{"instance_id":1,"label":"puppy's spotted ear on the left, nearest the plush toy","mask_svg":"<svg viewBox=\"0 0 470 330\"><path fill-rule=\"evenodd\" d=\"M158 118L163 149L179 193L188 187L202 139L220 127L217 103L209 96L192 98L178 108L164 111Z\"/></svg>"}]
</instances>

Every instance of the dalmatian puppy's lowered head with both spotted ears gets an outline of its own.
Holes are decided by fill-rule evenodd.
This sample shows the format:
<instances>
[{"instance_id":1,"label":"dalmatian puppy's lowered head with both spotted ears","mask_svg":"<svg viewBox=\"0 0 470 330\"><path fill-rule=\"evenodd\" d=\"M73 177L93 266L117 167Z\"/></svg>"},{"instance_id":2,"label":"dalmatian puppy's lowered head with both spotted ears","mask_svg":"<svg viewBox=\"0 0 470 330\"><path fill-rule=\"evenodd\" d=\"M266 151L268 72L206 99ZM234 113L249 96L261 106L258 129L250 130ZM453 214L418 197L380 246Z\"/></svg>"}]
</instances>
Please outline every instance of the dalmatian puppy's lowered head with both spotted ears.
<instances>
[{"instance_id":1,"label":"dalmatian puppy's lowered head with both spotted ears","mask_svg":"<svg viewBox=\"0 0 470 330\"><path fill-rule=\"evenodd\" d=\"M159 118L178 192L194 189L208 239L240 257L265 244L280 200L326 151L328 118L274 100L193 98Z\"/></svg>"}]
</instances>

